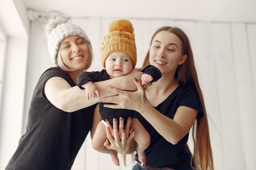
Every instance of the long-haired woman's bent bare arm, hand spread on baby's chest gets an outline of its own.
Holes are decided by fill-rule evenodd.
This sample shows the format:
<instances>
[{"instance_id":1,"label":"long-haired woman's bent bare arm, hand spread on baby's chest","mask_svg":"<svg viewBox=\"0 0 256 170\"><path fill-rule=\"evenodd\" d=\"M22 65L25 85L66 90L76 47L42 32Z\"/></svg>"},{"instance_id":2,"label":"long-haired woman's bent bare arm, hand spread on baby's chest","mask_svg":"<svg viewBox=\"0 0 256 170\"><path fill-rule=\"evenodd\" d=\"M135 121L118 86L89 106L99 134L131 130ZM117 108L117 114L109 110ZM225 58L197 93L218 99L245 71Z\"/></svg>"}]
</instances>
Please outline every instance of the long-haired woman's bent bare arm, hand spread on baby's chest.
<instances>
[{"instance_id":1,"label":"long-haired woman's bent bare arm, hand spread on baby's chest","mask_svg":"<svg viewBox=\"0 0 256 170\"><path fill-rule=\"evenodd\" d=\"M140 82L135 81L137 91L121 91L108 86L107 88L118 94L100 99L100 102L111 102L116 105L105 104L109 108L125 108L139 112L156 130L171 144L177 144L193 126L198 114L197 110L180 106L173 119L159 113L145 98L144 88Z\"/></svg>"}]
</instances>

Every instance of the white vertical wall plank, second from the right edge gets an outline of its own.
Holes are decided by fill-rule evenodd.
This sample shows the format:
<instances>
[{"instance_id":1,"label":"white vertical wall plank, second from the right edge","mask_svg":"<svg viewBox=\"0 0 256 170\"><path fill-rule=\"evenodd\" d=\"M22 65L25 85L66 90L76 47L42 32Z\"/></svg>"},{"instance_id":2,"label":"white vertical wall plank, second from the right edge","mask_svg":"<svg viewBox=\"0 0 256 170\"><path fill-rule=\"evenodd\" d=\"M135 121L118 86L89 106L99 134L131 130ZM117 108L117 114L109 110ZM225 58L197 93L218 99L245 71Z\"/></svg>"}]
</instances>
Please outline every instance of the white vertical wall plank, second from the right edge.
<instances>
[{"instance_id":1,"label":"white vertical wall plank, second from the right edge","mask_svg":"<svg viewBox=\"0 0 256 170\"><path fill-rule=\"evenodd\" d=\"M241 138L243 141L241 148L243 149L243 157L245 159L245 169L253 170L255 169L255 158L252 155L256 153L256 112L254 107L254 93L252 93L252 69L248 54L246 31L245 24L232 24L236 87L239 102L238 109L242 131Z\"/></svg>"}]
</instances>

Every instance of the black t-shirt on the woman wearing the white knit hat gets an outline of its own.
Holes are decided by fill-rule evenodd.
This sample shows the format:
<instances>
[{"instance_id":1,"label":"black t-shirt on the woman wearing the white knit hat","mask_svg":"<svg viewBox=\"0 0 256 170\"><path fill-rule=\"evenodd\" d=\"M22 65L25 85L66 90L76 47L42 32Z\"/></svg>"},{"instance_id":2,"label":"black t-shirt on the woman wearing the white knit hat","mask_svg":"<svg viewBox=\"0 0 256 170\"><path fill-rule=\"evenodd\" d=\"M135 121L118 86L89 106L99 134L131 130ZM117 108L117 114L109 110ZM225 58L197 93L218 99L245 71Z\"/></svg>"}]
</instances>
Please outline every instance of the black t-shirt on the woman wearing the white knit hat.
<instances>
[{"instance_id":1,"label":"black t-shirt on the woman wearing the white knit hat","mask_svg":"<svg viewBox=\"0 0 256 170\"><path fill-rule=\"evenodd\" d=\"M67 113L53 106L45 97L45 82L62 77L76 86L60 68L49 68L34 89L25 134L6 170L70 170L92 126L96 105Z\"/></svg>"}]
</instances>

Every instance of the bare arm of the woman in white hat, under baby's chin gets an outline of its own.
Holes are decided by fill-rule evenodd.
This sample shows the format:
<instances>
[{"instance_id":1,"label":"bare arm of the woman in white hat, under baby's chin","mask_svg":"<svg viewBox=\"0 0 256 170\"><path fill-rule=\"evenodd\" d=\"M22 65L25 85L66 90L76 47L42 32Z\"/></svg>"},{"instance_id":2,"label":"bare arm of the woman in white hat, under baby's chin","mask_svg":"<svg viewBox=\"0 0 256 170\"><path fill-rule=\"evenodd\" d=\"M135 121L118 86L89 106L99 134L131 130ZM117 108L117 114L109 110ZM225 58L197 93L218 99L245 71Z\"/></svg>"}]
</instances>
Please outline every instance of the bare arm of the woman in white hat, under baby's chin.
<instances>
[{"instance_id":1,"label":"bare arm of the woman in white hat, under baby's chin","mask_svg":"<svg viewBox=\"0 0 256 170\"><path fill-rule=\"evenodd\" d=\"M95 82L94 85L100 92L101 97L108 97L116 95L108 91L104 86L112 86L127 91L135 91L137 87L133 83L135 77L141 77L142 68L134 69L130 74L108 79L102 82ZM88 100L86 92L79 87L71 87L65 79L61 77L52 77L45 83L45 95L47 99L57 108L66 112L74 112L76 110L86 108L96 104L99 100L98 97Z\"/></svg>"}]
</instances>

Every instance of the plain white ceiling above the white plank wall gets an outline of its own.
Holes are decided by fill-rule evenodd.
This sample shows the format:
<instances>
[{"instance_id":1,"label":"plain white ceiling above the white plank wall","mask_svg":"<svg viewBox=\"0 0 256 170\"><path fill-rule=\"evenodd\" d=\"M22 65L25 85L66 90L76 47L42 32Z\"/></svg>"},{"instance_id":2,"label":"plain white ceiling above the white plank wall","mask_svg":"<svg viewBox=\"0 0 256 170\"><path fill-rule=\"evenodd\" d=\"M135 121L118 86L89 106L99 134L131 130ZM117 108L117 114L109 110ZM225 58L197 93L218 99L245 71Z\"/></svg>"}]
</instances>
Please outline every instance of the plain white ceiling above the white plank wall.
<instances>
[{"instance_id":1,"label":"plain white ceiling above the white plank wall","mask_svg":"<svg viewBox=\"0 0 256 170\"><path fill-rule=\"evenodd\" d=\"M256 0L24 0L38 12L72 17L256 22Z\"/></svg>"}]
</instances>

